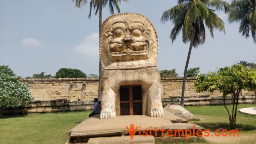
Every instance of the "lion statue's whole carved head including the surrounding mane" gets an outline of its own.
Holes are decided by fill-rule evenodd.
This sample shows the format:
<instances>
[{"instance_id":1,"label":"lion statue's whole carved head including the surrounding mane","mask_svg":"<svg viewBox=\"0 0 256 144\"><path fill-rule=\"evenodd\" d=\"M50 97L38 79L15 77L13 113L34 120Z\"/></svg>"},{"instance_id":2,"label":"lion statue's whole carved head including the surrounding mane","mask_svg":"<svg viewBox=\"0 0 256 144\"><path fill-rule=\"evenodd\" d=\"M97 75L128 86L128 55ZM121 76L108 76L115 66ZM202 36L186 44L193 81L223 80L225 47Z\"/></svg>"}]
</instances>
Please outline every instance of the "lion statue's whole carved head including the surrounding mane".
<instances>
[{"instance_id":1,"label":"lion statue's whole carved head including the surrounding mane","mask_svg":"<svg viewBox=\"0 0 256 144\"><path fill-rule=\"evenodd\" d=\"M124 15L127 15L127 13L125 13ZM139 16L142 17L142 15ZM110 69L118 69L120 67L111 67L114 65L120 66L122 62L125 62L122 63L122 65L127 65L128 62L133 63L133 61L145 61L152 59L152 57L156 58L157 54L155 54L156 50L154 51L154 48L157 49L157 44L154 45L154 40L152 38L152 30L154 30L153 35L155 35L155 37L156 32L152 24L145 25L144 23L147 22L147 19L144 16L142 18L144 18L145 20L141 21L138 21L140 20L138 18L137 20L134 20L130 16L116 17L119 17L119 20L114 19L116 21L111 21L111 23L106 24L106 26L104 25L104 22L102 25L102 27L106 27L105 29L101 30L100 35L100 44L102 44L103 42L103 44L101 45L103 47L100 47L100 55L103 63L103 68L104 66L106 66L105 68L107 69L107 66L111 65L108 66L110 67ZM104 33L104 35L102 33ZM106 59L108 61L107 63L105 63ZM126 67L129 68L131 66Z\"/></svg>"}]
</instances>

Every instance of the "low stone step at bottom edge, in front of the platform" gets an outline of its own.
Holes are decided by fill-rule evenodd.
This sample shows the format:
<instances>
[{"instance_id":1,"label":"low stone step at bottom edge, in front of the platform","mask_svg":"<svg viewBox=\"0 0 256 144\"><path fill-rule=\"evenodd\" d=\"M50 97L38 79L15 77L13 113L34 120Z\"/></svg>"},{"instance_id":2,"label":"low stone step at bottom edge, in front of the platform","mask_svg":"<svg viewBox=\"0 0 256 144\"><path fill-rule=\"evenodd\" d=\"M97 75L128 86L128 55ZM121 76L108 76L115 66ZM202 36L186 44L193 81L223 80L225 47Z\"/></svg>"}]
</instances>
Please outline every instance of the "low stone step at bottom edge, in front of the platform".
<instances>
[{"instance_id":1,"label":"low stone step at bottom edge, in front of the platform","mask_svg":"<svg viewBox=\"0 0 256 144\"><path fill-rule=\"evenodd\" d=\"M114 136L114 137L96 137L90 138L88 144L155 144L154 136L138 136L135 135L133 140L130 136Z\"/></svg>"}]
</instances>

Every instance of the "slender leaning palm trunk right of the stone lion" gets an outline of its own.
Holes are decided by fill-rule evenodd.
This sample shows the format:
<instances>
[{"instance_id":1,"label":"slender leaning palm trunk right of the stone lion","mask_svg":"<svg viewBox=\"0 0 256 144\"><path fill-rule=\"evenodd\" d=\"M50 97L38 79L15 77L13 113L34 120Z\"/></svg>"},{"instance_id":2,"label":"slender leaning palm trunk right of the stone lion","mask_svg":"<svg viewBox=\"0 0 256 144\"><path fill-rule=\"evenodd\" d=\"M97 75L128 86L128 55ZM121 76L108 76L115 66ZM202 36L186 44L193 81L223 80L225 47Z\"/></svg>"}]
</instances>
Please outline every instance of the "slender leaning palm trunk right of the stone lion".
<instances>
[{"instance_id":1,"label":"slender leaning palm trunk right of the stone lion","mask_svg":"<svg viewBox=\"0 0 256 144\"><path fill-rule=\"evenodd\" d=\"M186 85L186 78L187 78L187 70L188 70L188 64L189 64L189 59L190 59L194 39L195 39L195 34L196 34L196 31L195 31L195 28L194 28L193 36L190 40L190 46L189 46L189 50L188 50L188 57L187 57L186 65L185 65L183 82L182 82L181 102L180 102L180 105L182 107L184 107L184 93L185 93L185 85Z\"/></svg>"}]
</instances>

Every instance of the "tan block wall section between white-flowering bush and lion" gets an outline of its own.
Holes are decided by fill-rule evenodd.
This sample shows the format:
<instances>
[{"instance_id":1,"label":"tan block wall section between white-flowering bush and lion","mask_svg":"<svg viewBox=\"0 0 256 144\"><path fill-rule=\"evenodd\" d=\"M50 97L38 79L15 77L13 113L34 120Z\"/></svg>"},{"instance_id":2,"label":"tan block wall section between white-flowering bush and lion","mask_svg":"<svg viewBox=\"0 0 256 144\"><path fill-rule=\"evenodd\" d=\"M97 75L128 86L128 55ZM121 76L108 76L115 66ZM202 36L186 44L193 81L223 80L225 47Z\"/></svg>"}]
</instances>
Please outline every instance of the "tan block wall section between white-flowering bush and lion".
<instances>
[{"instance_id":1,"label":"tan block wall section between white-flowering bush and lion","mask_svg":"<svg viewBox=\"0 0 256 144\"><path fill-rule=\"evenodd\" d=\"M35 100L49 101L67 99L73 101L93 101L98 97L98 79L95 78L51 78L21 79L29 85Z\"/></svg>"}]
</instances>

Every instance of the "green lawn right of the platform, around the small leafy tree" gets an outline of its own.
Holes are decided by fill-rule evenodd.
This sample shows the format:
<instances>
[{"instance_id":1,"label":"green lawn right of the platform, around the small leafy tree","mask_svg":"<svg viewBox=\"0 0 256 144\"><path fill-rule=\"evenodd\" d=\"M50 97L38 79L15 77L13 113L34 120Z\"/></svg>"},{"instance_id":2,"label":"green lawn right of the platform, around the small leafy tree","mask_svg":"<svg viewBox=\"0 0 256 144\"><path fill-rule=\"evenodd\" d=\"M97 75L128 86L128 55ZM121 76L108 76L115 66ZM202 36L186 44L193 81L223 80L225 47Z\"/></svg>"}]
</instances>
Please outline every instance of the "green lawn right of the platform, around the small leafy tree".
<instances>
[{"instance_id":1,"label":"green lawn right of the platform, around the small leafy tree","mask_svg":"<svg viewBox=\"0 0 256 144\"><path fill-rule=\"evenodd\" d=\"M238 104L237 109L251 107L251 104ZM227 106L231 109L231 105ZM198 124L205 129L209 128L211 131L219 127L229 129L229 119L227 110L223 105L218 106L200 106L200 107L185 107L188 111L197 116L198 119L189 120L191 123ZM230 111L230 110L229 110ZM256 116L240 113L237 111L236 128L243 132L256 133Z\"/></svg>"}]
</instances>

